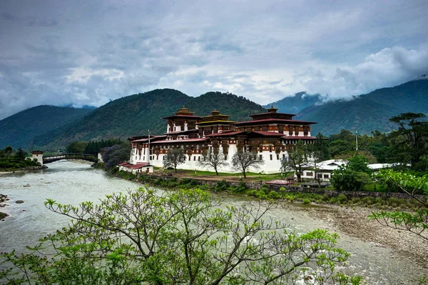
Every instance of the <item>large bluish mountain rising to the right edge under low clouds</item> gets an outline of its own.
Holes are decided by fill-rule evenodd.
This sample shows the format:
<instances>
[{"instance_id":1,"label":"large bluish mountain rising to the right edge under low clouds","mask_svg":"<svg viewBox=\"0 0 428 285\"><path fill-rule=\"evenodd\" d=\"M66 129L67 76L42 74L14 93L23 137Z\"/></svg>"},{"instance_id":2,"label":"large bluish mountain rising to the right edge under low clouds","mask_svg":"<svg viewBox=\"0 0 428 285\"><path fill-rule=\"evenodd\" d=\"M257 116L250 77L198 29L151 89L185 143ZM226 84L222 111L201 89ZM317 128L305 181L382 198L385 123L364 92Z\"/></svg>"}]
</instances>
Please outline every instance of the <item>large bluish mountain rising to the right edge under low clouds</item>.
<instances>
[{"instance_id":1,"label":"large bluish mountain rising to the right edge under low clouds","mask_svg":"<svg viewBox=\"0 0 428 285\"><path fill-rule=\"evenodd\" d=\"M397 128L389 118L406 112L428 114L428 80L424 77L355 96L350 101L310 106L294 119L317 121L312 125L314 134L337 134L341 129L370 134L374 130L388 132Z\"/></svg>"}]
</instances>

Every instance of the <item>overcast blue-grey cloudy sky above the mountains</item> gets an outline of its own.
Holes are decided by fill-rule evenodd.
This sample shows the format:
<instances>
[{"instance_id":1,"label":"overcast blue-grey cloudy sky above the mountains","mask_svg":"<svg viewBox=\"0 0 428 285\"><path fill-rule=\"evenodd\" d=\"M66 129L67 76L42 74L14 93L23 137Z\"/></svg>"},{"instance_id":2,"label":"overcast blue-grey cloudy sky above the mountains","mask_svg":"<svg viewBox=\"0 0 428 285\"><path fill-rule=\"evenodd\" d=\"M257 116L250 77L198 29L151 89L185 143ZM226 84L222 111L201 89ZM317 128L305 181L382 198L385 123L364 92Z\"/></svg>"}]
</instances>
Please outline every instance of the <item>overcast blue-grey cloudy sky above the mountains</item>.
<instances>
[{"instance_id":1,"label":"overcast blue-grey cloudy sky above the mountains","mask_svg":"<svg viewBox=\"0 0 428 285\"><path fill-rule=\"evenodd\" d=\"M428 1L0 1L0 119L159 88L268 104L428 74Z\"/></svg>"}]
</instances>

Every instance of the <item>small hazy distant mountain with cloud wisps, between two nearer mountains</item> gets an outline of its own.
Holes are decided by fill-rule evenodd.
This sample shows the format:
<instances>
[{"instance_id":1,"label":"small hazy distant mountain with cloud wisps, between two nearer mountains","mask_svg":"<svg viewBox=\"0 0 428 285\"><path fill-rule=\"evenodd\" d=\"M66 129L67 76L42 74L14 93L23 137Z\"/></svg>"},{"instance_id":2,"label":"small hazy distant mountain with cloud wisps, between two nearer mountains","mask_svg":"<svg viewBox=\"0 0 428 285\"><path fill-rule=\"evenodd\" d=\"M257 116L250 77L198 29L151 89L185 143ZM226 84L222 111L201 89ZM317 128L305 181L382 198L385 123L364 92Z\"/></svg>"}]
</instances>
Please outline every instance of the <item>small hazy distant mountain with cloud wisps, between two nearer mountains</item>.
<instances>
[{"instance_id":1,"label":"small hazy distant mountain with cloud wisps, between two nearer mountains","mask_svg":"<svg viewBox=\"0 0 428 285\"><path fill-rule=\"evenodd\" d=\"M265 108L270 108L274 106L279 109L278 112L287 113L287 114L297 114L303 109L306 109L309 106L321 103L321 98L319 94L310 95L306 92L296 93L294 96L285 97L280 101L272 102L265 105Z\"/></svg>"}]
</instances>

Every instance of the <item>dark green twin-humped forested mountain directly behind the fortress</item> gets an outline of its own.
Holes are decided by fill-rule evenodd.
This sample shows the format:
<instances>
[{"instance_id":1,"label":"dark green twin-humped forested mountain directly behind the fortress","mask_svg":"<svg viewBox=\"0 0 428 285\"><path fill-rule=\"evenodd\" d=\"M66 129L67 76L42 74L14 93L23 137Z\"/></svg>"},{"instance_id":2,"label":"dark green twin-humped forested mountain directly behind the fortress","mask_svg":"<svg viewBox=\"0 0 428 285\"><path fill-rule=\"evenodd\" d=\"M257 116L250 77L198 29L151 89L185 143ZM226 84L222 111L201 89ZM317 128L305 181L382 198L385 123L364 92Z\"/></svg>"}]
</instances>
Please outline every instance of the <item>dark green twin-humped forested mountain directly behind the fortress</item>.
<instances>
[{"instance_id":1,"label":"dark green twin-humped forested mountain directly behind the fortress","mask_svg":"<svg viewBox=\"0 0 428 285\"><path fill-rule=\"evenodd\" d=\"M149 129L151 134L163 134L166 122L162 117L172 115L182 106L190 108L198 116L207 116L213 109L218 109L238 121L248 120L249 114L264 111L259 104L233 94L208 92L191 97L173 89L156 89L111 101L79 121L36 136L31 145L59 149L72 141L126 139L148 134Z\"/></svg>"}]
</instances>

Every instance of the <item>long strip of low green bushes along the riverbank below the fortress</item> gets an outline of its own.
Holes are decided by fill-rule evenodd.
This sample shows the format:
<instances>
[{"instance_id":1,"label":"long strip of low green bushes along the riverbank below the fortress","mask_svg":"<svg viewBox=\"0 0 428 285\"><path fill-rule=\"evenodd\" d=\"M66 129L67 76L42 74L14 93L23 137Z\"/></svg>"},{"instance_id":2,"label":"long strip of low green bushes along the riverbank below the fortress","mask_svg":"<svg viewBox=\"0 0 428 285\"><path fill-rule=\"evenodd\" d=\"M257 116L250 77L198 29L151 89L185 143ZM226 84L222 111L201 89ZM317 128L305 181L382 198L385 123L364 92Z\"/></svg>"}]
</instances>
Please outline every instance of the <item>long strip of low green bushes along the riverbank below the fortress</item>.
<instances>
[{"instance_id":1,"label":"long strip of low green bushes along the riverbank below the fortress","mask_svg":"<svg viewBox=\"0 0 428 285\"><path fill-rule=\"evenodd\" d=\"M301 204L335 204L339 206L362 206L389 210L417 211L421 206L406 194L383 192L335 191L324 189L305 189L299 186L279 187L255 182L211 181L201 179L178 179L173 176L133 174L127 171L111 171L122 179L136 181L164 189L202 189L215 193L240 194L258 199L282 199Z\"/></svg>"}]
</instances>

